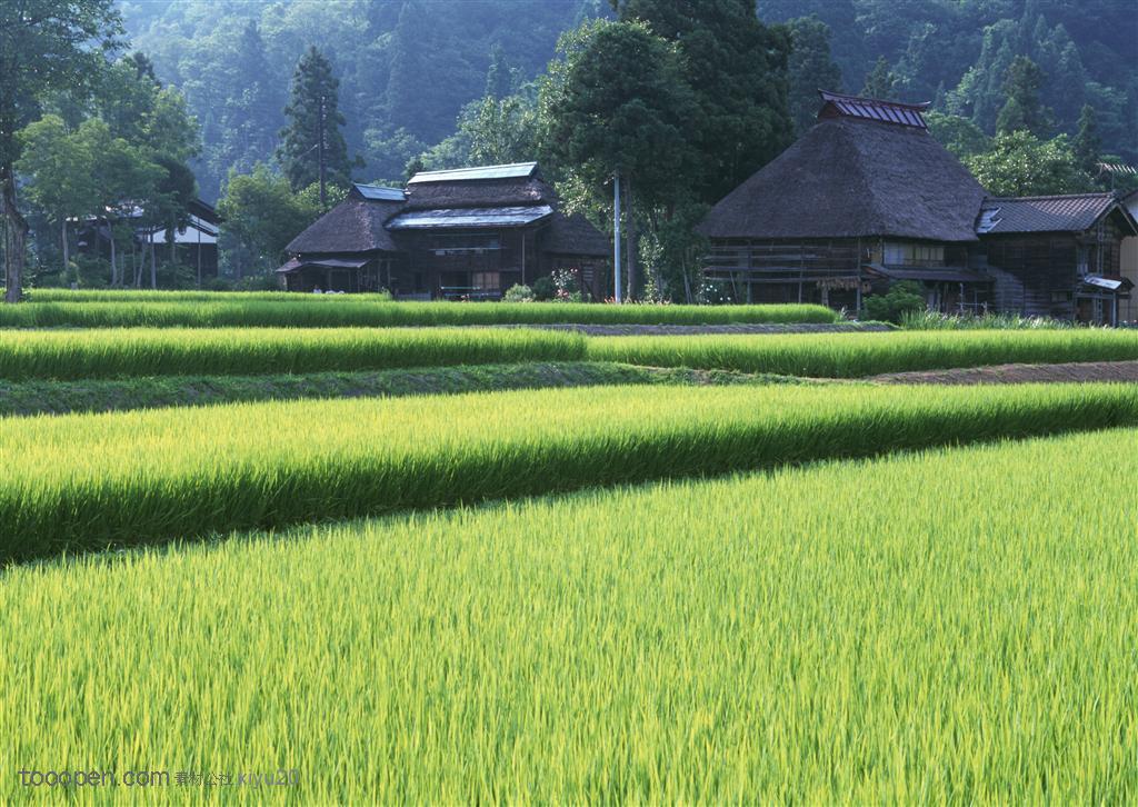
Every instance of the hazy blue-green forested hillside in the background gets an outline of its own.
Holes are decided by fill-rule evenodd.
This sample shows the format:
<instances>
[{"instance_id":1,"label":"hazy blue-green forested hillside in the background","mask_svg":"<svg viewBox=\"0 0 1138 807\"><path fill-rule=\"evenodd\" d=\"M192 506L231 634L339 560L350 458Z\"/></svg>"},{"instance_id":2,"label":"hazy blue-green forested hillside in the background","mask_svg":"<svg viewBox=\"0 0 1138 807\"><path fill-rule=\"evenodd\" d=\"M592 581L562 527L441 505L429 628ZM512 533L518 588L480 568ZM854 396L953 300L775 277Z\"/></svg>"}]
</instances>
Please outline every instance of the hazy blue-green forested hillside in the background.
<instances>
[{"instance_id":1,"label":"hazy blue-green forested hillside in the background","mask_svg":"<svg viewBox=\"0 0 1138 807\"><path fill-rule=\"evenodd\" d=\"M248 171L272 157L308 46L340 80L348 153L364 163L356 176L397 180L409 159L452 134L463 105L495 83L534 79L562 31L612 14L608 0L124 0L121 9L132 46L198 117L196 168L207 198L230 166ZM1104 151L1138 160L1131 0L758 0L758 13L768 23L817 15L847 91L860 91L884 57L893 94L933 100L988 134L1007 67L1029 56L1044 73L1049 133L1073 134L1089 104ZM813 99L800 102L809 108Z\"/></svg>"}]
</instances>

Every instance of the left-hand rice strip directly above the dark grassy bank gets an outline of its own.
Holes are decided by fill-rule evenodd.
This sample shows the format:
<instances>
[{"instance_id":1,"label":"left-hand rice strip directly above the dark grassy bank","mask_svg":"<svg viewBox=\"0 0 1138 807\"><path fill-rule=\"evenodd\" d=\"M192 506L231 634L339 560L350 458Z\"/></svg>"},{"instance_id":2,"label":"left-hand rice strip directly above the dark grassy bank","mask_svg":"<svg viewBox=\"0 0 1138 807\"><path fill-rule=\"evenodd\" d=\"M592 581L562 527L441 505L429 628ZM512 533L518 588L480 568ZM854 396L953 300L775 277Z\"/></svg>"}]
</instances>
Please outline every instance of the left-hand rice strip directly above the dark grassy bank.
<instances>
[{"instance_id":1,"label":"left-hand rice strip directly above the dark grassy bank","mask_svg":"<svg viewBox=\"0 0 1138 807\"><path fill-rule=\"evenodd\" d=\"M0 335L10 380L321 372L582 359L580 335L533 329L122 328Z\"/></svg>"}]
</instances>

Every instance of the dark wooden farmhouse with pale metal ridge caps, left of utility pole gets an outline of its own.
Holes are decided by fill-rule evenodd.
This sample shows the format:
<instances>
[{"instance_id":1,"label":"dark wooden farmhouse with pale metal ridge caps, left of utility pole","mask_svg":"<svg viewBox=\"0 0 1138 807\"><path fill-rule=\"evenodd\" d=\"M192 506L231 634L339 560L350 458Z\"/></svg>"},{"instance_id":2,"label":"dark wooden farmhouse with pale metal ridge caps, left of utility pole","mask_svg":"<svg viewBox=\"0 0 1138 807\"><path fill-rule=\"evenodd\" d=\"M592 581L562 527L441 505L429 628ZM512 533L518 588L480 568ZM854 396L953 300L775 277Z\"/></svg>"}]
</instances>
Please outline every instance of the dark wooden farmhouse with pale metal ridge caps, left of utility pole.
<instances>
[{"instance_id":1,"label":"dark wooden farmhouse with pale metal ridge caps, left of utility pole","mask_svg":"<svg viewBox=\"0 0 1138 807\"><path fill-rule=\"evenodd\" d=\"M558 209L536 163L421 172L405 189L356 184L288 245L290 291L498 299L555 270L586 298L607 294L609 240Z\"/></svg>"}]
</instances>

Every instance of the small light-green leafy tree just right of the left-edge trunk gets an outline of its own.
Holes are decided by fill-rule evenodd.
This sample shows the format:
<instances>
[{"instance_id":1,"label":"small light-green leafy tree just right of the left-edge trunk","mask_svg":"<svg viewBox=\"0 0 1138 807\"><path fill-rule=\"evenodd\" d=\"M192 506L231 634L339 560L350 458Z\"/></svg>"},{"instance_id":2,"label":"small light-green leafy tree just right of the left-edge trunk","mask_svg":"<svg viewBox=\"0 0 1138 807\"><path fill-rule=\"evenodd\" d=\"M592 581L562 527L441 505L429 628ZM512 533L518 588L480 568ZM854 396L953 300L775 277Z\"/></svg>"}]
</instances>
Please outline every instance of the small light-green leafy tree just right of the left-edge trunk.
<instances>
[{"instance_id":1,"label":"small light-green leafy tree just right of the left-edge trunk","mask_svg":"<svg viewBox=\"0 0 1138 807\"><path fill-rule=\"evenodd\" d=\"M92 213L98 199L91 173L97 155L88 141L83 132L68 132L57 115L47 115L19 132L23 154L16 170L31 178L27 198L59 228L65 271L71 263L67 222Z\"/></svg>"}]
</instances>

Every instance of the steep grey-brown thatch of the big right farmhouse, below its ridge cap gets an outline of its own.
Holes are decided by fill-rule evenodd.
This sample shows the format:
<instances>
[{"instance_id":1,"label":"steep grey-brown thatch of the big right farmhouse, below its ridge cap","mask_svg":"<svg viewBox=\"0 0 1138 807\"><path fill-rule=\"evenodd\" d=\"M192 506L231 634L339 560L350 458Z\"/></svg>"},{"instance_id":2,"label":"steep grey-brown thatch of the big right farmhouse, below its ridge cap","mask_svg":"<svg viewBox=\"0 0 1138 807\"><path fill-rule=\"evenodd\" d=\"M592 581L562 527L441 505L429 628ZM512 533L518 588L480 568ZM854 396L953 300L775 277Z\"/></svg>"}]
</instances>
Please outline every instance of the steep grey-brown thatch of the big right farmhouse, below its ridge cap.
<instances>
[{"instance_id":1,"label":"steep grey-brown thatch of the big right farmhouse, below its ridge cap","mask_svg":"<svg viewBox=\"0 0 1138 807\"><path fill-rule=\"evenodd\" d=\"M984 190L921 126L820 120L717 204L712 238L974 241Z\"/></svg>"}]
</instances>

